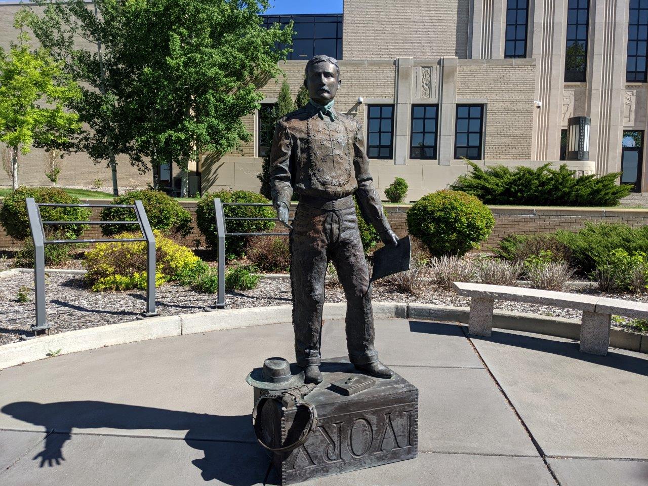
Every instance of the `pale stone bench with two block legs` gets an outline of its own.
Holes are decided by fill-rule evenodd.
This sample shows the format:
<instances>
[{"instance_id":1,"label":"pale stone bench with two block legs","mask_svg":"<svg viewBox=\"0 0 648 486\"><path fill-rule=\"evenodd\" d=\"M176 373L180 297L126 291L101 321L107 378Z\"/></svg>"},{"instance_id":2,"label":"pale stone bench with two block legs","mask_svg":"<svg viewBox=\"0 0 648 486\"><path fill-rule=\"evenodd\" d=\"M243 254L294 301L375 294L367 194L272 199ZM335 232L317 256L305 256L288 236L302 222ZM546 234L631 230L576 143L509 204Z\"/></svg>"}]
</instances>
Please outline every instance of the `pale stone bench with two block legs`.
<instances>
[{"instance_id":1,"label":"pale stone bench with two block legs","mask_svg":"<svg viewBox=\"0 0 648 486\"><path fill-rule=\"evenodd\" d=\"M457 294L470 297L468 332L477 336L491 336L492 307L496 300L582 310L580 349L583 353L600 356L607 354L610 345L612 314L634 319L648 319L648 304L642 302L478 283L454 282L453 286Z\"/></svg>"}]
</instances>

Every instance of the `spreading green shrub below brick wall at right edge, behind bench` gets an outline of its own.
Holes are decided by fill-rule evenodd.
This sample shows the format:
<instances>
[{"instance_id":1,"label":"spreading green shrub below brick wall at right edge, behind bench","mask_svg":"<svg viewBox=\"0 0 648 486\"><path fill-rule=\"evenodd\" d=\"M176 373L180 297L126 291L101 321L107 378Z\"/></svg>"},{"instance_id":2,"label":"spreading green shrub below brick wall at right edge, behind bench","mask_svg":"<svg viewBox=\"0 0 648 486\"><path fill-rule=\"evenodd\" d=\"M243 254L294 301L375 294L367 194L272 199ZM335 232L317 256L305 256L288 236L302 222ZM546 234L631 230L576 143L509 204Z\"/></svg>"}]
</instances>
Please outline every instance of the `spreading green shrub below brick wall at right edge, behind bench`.
<instances>
[{"instance_id":1,"label":"spreading green shrub below brick wall at right edge, behind bench","mask_svg":"<svg viewBox=\"0 0 648 486\"><path fill-rule=\"evenodd\" d=\"M596 269L597 262L607 261L615 249L632 254L648 253L648 226L632 228L624 224L586 224L577 233L559 230L555 236L569 248L573 266L586 275Z\"/></svg>"}]
</instances>

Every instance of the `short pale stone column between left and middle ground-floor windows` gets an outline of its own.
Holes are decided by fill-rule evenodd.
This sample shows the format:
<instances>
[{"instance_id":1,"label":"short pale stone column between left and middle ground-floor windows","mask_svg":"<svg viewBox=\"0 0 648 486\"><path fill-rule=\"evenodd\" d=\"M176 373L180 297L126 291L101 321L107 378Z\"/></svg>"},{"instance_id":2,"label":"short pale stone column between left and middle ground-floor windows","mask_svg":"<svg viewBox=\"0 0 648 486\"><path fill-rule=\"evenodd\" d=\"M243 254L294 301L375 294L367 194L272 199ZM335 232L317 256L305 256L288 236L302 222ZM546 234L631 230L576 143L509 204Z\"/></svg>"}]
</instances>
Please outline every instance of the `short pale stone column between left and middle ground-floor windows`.
<instances>
[{"instance_id":1,"label":"short pale stone column between left and middle ground-floor windows","mask_svg":"<svg viewBox=\"0 0 648 486\"><path fill-rule=\"evenodd\" d=\"M394 95L394 163L406 165L410 145L410 111L413 83L413 58L397 58Z\"/></svg>"}]
</instances>

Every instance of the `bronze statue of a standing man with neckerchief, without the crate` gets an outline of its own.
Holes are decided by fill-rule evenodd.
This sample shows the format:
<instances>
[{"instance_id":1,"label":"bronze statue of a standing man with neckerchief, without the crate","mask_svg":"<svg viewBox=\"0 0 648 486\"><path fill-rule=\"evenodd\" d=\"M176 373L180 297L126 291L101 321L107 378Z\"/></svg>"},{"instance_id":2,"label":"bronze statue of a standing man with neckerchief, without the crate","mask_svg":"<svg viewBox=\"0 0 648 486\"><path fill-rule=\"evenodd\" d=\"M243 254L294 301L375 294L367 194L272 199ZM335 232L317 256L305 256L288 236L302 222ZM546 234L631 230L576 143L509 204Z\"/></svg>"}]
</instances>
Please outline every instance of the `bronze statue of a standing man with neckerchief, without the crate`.
<instances>
[{"instance_id":1,"label":"bronze statue of a standing man with neckerchief, without the crate","mask_svg":"<svg viewBox=\"0 0 648 486\"><path fill-rule=\"evenodd\" d=\"M277 122L270 153L272 202L288 224L293 191L299 205L290 231L290 278L297 364L319 383L324 283L332 260L347 297L347 348L357 369L379 378L393 371L374 348L371 283L353 194L384 244L398 238L385 217L369 174L362 126L333 108L340 87L338 62L315 56L306 65L310 102Z\"/></svg>"}]
</instances>

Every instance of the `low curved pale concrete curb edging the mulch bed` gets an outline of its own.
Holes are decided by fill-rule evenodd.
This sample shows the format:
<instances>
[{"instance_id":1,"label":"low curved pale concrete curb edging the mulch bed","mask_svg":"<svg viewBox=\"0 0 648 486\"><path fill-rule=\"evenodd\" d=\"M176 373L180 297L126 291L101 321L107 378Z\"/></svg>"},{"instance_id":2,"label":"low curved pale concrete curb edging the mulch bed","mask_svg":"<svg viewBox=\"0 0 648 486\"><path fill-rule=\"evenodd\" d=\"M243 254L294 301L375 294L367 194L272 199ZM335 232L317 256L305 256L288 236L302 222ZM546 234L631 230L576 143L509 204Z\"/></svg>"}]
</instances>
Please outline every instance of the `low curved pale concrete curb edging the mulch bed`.
<instances>
[{"instance_id":1,"label":"low curved pale concrete curb edging the mulch bed","mask_svg":"<svg viewBox=\"0 0 648 486\"><path fill-rule=\"evenodd\" d=\"M344 319L347 305L324 305L323 319ZM470 309L445 305L383 303L373 304L376 319L420 319L467 324ZM145 341L181 334L238 329L292 321L292 305L226 309L178 316L163 316L73 330L0 346L0 369L41 360L60 349L59 355L88 351L105 346ZM493 327L521 330L548 336L578 340L581 324L573 319L550 318L496 310ZM648 353L648 336L621 329L610 330L610 346Z\"/></svg>"}]
</instances>

